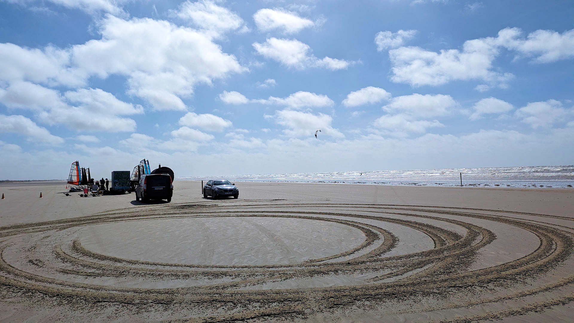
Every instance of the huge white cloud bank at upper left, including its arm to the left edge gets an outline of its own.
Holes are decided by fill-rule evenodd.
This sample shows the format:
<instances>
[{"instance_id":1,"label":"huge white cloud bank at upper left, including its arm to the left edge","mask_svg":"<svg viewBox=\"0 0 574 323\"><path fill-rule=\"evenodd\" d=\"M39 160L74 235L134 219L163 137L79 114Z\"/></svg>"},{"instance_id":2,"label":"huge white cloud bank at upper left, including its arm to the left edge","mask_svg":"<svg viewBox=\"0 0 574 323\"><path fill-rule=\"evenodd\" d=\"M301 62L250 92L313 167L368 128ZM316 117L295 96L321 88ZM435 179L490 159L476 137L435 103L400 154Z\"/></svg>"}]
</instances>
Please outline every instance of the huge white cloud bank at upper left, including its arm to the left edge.
<instances>
[{"instance_id":1,"label":"huge white cloud bank at upper left, including its arm to the left edge","mask_svg":"<svg viewBox=\"0 0 574 323\"><path fill-rule=\"evenodd\" d=\"M101 39L67 49L0 44L0 81L80 87L91 76L121 75L127 78L127 94L145 99L155 110L185 111L181 98L193 95L197 84L247 70L202 30L107 15L97 31Z\"/></svg>"}]
</instances>

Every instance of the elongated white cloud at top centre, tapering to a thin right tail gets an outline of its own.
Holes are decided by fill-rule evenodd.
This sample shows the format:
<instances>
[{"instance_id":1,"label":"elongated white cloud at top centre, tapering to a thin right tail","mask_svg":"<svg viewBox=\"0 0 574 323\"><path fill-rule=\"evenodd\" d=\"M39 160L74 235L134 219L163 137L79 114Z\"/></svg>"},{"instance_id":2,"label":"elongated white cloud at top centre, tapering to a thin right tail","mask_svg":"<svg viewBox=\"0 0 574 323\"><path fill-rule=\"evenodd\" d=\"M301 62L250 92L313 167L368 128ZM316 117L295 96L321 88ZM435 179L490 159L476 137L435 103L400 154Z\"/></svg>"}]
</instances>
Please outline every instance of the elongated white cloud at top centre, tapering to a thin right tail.
<instances>
[{"instance_id":1,"label":"elongated white cloud at top centre, tapering to a thin right tail","mask_svg":"<svg viewBox=\"0 0 574 323\"><path fill-rule=\"evenodd\" d=\"M324 67L329 70L344 70L355 64L355 61L346 61L324 57L318 59L311 53L309 45L301 43L296 39L268 38L265 43L253 43L253 48L268 59L273 59L286 67L305 70L309 67Z\"/></svg>"}]
</instances>

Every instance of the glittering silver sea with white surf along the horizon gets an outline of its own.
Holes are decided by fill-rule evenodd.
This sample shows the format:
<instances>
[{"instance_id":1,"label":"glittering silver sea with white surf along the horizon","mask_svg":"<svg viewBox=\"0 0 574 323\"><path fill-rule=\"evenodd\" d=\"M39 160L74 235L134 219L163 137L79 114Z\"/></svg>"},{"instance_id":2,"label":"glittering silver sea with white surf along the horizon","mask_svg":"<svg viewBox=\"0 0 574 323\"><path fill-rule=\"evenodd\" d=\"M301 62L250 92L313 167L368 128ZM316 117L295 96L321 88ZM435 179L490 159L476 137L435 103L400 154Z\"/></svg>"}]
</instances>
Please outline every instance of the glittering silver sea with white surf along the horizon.
<instances>
[{"instance_id":1,"label":"glittering silver sea with white surf along the horizon","mask_svg":"<svg viewBox=\"0 0 574 323\"><path fill-rule=\"evenodd\" d=\"M176 177L179 180L228 179L231 182L293 182L379 184L401 186L460 186L572 188L574 165L445 168L439 170L304 172L251 175Z\"/></svg>"}]
</instances>

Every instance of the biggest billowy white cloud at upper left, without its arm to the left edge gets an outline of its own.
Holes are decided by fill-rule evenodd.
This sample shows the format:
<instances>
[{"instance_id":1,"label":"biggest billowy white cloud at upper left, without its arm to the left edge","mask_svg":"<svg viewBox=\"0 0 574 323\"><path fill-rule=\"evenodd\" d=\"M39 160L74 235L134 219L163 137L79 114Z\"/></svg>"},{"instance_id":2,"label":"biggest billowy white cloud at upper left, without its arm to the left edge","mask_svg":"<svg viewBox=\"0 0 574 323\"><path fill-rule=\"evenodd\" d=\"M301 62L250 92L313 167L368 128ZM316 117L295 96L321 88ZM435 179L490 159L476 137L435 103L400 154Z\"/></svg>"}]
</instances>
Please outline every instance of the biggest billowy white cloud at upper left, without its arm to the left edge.
<instances>
[{"instance_id":1,"label":"biggest billowy white cloud at upper left, without its arm to the left edge","mask_svg":"<svg viewBox=\"0 0 574 323\"><path fill-rule=\"evenodd\" d=\"M86 75L125 75L129 94L149 101L156 110L187 110L199 83L243 72L235 56L222 52L208 34L167 21L107 16L100 40L72 47L73 61Z\"/></svg>"}]
</instances>

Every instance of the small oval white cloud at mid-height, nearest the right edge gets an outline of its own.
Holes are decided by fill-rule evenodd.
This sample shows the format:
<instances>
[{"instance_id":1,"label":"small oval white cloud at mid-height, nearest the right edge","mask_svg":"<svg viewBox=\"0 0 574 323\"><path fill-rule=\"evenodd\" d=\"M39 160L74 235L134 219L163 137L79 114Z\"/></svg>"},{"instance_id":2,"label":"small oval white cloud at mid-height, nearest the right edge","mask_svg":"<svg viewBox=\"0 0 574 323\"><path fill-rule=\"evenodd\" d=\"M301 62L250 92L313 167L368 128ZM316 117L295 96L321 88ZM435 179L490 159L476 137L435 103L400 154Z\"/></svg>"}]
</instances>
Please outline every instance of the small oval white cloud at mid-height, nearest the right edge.
<instances>
[{"instance_id":1,"label":"small oval white cloud at mid-height, nearest the right edge","mask_svg":"<svg viewBox=\"0 0 574 323\"><path fill-rule=\"evenodd\" d=\"M516 116L522 118L522 122L532 128L550 127L556 122L563 121L569 114L571 115L572 111L565 110L560 101L553 99L528 103L516 111Z\"/></svg>"}]
</instances>

